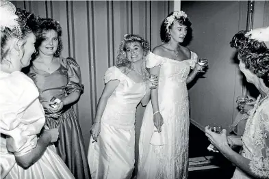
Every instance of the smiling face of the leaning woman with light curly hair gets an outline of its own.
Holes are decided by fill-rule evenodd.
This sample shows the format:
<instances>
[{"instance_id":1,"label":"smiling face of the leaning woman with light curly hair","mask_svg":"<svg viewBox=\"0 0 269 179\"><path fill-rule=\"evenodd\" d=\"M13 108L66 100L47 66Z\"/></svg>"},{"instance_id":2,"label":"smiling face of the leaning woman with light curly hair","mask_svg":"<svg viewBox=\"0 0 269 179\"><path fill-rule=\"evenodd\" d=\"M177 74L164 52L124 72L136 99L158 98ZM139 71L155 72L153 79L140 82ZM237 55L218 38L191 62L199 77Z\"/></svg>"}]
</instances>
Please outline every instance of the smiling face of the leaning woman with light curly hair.
<instances>
[{"instance_id":1,"label":"smiling face of the leaning woman with light curly hair","mask_svg":"<svg viewBox=\"0 0 269 179\"><path fill-rule=\"evenodd\" d=\"M139 42L131 42L126 45L127 59L132 63L143 58L144 50Z\"/></svg>"}]
</instances>

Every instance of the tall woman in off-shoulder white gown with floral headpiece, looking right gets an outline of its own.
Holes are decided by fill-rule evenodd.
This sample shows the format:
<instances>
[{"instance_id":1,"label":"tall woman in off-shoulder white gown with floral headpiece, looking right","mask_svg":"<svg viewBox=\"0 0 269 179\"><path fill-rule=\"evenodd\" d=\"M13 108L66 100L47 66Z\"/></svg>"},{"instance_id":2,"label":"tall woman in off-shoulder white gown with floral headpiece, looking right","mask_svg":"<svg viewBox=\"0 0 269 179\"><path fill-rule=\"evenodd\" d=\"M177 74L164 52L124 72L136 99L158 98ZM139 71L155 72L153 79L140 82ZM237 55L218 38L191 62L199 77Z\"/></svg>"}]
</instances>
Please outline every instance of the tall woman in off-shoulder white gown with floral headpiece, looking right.
<instances>
[{"instance_id":1,"label":"tall woman in off-shoulder white gown with floral headpiece, looking right","mask_svg":"<svg viewBox=\"0 0 269 179\"><path fill-rule=\"evenodd\" d=\"M151 90L139 141L138 178L188 178L189 99L187 83L201 70L197 55L181 46L190 21L172 12L161 26L164 44L147 56L146 67L159 77ZM192 72L190 72L192 68ZM154 138L159 133L159 138ZM159 141L158 141L159 140Z\"/></svg>"}]
</instances>

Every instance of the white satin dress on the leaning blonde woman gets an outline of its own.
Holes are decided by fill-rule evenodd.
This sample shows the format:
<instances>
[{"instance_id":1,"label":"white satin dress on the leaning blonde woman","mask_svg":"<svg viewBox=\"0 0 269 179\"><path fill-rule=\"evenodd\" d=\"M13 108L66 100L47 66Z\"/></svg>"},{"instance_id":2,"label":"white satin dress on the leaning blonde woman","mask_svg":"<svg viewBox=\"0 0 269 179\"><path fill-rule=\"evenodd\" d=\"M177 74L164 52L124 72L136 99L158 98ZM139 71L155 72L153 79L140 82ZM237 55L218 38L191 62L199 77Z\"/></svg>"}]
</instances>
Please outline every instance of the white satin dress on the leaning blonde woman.
<instances>
[{"instance_id":1,"label":"white satin dress on the leaning blonde woman","mask_svg":"<svg viewBox=\"0 0 269 179\"><path fill-rule=\"evenodd\" d=\"M116 66L105 72L105 83L120 81L107 100L97 142L88 150L92 178L131 178L135 163L136 107L146 94L145 83L136 83Z\"/></svg>"}]
</instances>

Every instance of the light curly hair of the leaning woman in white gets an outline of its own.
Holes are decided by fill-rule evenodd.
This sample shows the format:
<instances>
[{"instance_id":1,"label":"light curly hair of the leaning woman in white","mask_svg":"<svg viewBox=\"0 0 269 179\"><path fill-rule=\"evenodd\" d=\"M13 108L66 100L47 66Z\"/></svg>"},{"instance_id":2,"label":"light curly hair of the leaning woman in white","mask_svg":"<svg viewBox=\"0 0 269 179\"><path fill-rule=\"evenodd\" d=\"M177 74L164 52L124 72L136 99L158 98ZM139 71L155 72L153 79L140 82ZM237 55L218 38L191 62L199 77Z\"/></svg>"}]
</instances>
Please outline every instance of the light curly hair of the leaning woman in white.
<instances>
[{"instance_id":1,"label":"light curly hair of the leaning woman in white","mask_svg":"<svg viewBox=\"0 0 269 179\"><path fill-rule=\"evenodd\" d=\"M118 49L118 55L117 55L117 61L116 61L116 66L117 67L125 67L125 74L131 72L131 70L133 70L133 66L131 64L131 61L129 61L127 59L127 55L126 55L126 46L127 44L131 43L131 42L138 42L140 43L143 51L144 51L144 57L146 57L146 55L149 53L149 42L147 42L146 40L144 40L144 38L142 38L141 36L138 35L134 35L134 34L126 34L124 36L124 39L122 42L120 42L120 46ZM146 61L143 57L143 61L142 61L142 66L141 66L141 72L142 72L142 76L143 76L143 80L146 81L146 78L149 76L149 71L146 70Z\"/></svg>"}]
</instances>

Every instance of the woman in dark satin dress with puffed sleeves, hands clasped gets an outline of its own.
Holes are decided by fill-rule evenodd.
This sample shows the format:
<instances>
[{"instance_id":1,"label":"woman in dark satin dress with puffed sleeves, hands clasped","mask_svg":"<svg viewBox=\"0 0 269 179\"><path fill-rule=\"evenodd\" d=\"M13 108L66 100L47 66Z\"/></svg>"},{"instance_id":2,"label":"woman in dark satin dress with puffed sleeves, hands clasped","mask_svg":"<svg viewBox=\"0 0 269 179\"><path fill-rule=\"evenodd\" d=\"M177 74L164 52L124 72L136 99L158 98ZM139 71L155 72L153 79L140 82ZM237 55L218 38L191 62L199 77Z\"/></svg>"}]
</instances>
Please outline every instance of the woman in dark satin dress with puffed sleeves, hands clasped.
<instances>
[{"instance_id":1,"label":"woman in dark satin dress with puffed sleeves, hands clasped","mask_svg":"<svg viewBox=\"0 0 269 179\"><path fill-rule=\"evenodd\" d=\"M79 121L72 106L84 88L75 59L60 57L62 29L51 18L38 20L40 33L36 39L33 65L27 74L38 87L44 107L46 125L59 129L55 142L57 153L75 178L90 178L87 156Z\"/></svg>"}]
</instances>

